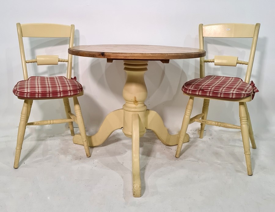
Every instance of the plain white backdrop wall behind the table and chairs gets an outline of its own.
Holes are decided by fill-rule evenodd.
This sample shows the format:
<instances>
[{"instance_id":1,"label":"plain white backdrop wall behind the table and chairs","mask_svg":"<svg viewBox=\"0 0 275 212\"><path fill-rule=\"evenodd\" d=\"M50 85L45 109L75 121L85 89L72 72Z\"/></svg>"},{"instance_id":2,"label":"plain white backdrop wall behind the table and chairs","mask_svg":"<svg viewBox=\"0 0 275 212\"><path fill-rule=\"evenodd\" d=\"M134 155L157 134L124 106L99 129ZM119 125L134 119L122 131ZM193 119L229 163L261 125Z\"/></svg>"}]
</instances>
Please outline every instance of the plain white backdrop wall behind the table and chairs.
<instances>
[{"instance_id":1,"label":"plain white backdrop wall behind the table and chairs","mask_svg":"<svg viewBox=\"0 0 275 212\"><path fill-rule=\"evenodd\" d=\"M151 44L196 48L199 47L200 23L258 22L261 23L261 28L251 80L260 92L256 93L253 102L248 103L248 109L256 135L272 132L272 123L275 121L272 90L275 67L274 8L274 1L256 0L2 2L0 113L4 122L1 123L1 128L18 126L23 104L23 101L12 93L16 82L23 79L16 33L17 22L75 24L75 45ZM35 42L30 44L36 46ZM241 49L237 51L243 53ZM74 56L73 63L74 75L85 89L85 95L79 97L79 102L86 128L94 132L109 112L121 108L124 104L123 62L114 61L107 64L106 59ZM182 95L181 87L185 81L198 77L199 59L171 60L169 64L149 61L148 69L145 73L148 89L148 99L145 103L149 109L160 113L169 131L175 133L181 126L188 100L188 97ZM53 72L58 73L59 69L53 68ZM237 71L233 76L242 75ZM200 100L195 102L194 112L201 110L199 102L201 103ZM46 113L43 114L42 110L46 110ZM65 117L63 101L36 101L30 121L53 118L57 113ZM222 114L224 117L220 118L220 121L235 124L239 122L237 103L212 101L208 114L209 119L219 119ZM198 125L190 125L190 128L198 128Z\"/></svg>"}]
</instances>

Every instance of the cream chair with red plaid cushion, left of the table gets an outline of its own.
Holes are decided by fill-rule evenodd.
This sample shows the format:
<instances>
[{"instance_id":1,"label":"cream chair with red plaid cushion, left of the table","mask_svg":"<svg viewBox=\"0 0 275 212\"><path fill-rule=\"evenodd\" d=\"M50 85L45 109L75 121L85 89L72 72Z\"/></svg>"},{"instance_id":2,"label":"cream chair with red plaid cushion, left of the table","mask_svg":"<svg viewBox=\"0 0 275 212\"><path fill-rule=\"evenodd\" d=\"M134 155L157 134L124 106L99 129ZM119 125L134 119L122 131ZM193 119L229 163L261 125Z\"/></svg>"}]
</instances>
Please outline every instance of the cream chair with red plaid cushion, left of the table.
<instances>
[{"instance_id":1,"label":"cream chair with red plaid cushion, left of the table","mask_svg":"<svg viewBox=\"0 0 275 212\"><path fill-rule=\"evenodd\" d=\"M13 88L13 93L18 99L23 99L24 104L21 111L20 123L17 134L17 145L14 159L14 168L18 168L22 144L26 126L28 125L49 125L68 123L71 135L74 136L73 121L79 126L79 131L84 143L86 156L90 157L86 130L77 97L83 95L82 85L71 78L72 55L68 59L61 59L58 55L37 55L36 59L26 60L23 45L23 37L36 38L68 38L69 47L73 46L75 26L61 24L20 24L17 23L17 33L20 47L21 62L24 80L19 81ZM68 47L66 47L67 50ZM59 62L67 63L67 75L64 76L31 76L28 77L27 63L37 65L57 65ZM75 114L71 113L69 99L73 98ZM44 120L29 122L33 100L39 99L63 99L66 119Z\"/></svg>"}]
</instances>

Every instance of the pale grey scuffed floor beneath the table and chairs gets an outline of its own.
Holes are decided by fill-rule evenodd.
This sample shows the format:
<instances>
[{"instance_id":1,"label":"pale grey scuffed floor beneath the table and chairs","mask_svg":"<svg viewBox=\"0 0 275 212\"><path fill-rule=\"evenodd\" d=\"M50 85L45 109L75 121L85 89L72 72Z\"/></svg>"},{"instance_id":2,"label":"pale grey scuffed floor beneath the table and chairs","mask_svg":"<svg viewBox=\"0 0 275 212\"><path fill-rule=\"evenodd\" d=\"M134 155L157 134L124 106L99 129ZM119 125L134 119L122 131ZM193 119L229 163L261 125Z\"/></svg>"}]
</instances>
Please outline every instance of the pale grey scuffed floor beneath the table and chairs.
<instances>
[{"instance_id":1,"label":"pale grey scuffed floor beneath the table and chairs","mask_svg":"<svg viewBox=\"0 0 275 212\"><path fill-rule=\"evenodd\" d=\"M196 130L188 133L180 158L176 146L163 145L153 132L141 138L142 196L134 198L131 140L121 130L86 158L65 126L28 127L13 169L17 129L2 129L0 211L275 210L273 139L255 135L248 176L238 130L208 128L203 139Z\"/></svg>"}]
</instances>

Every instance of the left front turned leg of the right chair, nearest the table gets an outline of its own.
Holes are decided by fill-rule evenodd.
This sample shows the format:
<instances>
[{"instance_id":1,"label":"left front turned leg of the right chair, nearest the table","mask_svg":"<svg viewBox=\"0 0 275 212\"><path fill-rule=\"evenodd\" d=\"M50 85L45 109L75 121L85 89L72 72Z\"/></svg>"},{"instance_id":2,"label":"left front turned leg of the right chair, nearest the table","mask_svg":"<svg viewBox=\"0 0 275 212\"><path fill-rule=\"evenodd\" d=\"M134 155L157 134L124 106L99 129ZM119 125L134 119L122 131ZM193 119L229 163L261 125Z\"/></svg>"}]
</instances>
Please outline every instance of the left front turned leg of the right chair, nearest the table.
<instances>
[{"instance_id":1,"label":"left front turned leg of the right chair, nearest the table","mask_svg":"<svg viewBox=\"0 0 275 212\"><path fill-rule=\"evenodd\" d=\"M186 133L188 125L189 125L190 116L191 116L192 109L193 109L193 103L194 103L194 97L190 96L189 101L186 106L186 109L185 109L185 114L184 114L184 117L182 120L182 128L180 131L178 147L177 147L177 151L176 151L176 158L179 158L180 152L182 150L182 143L183 143L185 133Z\"/></svg>"}]
</instances>

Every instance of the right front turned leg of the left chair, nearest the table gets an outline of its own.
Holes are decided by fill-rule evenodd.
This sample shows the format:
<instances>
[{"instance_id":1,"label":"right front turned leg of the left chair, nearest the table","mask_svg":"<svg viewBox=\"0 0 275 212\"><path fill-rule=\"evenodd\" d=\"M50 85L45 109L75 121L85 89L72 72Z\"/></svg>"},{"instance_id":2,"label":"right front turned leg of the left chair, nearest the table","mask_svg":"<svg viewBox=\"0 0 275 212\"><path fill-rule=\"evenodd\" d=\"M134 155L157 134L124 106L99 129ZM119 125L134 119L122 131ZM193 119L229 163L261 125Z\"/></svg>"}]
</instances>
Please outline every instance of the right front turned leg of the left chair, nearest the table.
<instances>
[{"instance_id":1,"label":"right front turned leg of the left chair, nearest the table","mask_svg":"<svg viewBox=\"0 0 275 212\"><path fill-rule=\"evenodd\" d=\"M88 140L87 140L87 135L86 135L86 129L85 129L80 105L79 105L77 97L74 97L73 99L74 99L74 106L75 106L75 115L77 118L77 123L78 123L79 131L80 131L80 135L82 137L82 141L84 144L85 152L86 152L87 157L91 157Z\"/></svg>"}]
</instances>

